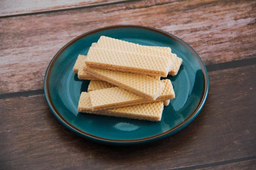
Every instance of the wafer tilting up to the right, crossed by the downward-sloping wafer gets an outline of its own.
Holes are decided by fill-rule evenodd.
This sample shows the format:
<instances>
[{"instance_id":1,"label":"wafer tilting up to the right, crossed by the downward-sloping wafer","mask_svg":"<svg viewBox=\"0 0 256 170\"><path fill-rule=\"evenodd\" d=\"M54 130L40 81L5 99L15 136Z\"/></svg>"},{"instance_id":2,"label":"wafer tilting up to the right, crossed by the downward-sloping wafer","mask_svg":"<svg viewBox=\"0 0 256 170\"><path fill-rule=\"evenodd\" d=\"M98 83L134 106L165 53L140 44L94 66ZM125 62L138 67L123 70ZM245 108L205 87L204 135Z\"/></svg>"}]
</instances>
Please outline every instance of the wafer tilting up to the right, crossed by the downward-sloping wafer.
<instances>
[{"instance_id":1,"label":"wafer tilting up to the right, crossed by the downward-sloping wafer","mask_svg":"<svg viewBox=\"0 0 256 170\"><path fill-rule=\"evenodd\" d=\"M172 83L169 79L161 80L165 88L156 100L145 99L142 96L126 91L119 87L106 88L96 91L90 91L90 100L93 110L122 108L131 105L140 105L151 102L175 98Z\"/></svg>"}]
</instances>

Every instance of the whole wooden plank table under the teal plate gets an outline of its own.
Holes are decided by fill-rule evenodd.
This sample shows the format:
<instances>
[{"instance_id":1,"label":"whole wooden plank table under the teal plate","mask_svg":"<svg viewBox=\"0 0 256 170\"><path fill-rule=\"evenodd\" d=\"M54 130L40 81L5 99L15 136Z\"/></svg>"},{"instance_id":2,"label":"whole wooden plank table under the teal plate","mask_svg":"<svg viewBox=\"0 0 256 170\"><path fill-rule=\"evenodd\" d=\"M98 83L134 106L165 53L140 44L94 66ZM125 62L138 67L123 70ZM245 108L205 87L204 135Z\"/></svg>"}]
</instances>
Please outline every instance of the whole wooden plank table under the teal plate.
<instances>
[{"instance_id":1,"label":"whole wooden plank table under the teal plate","mask_svg":"<svg viewBox=\"0 0 256 170\"><path fill-rule=\"evenodd\" d=\"M61 125L43 92L47 66L73 38L134 24L188 42L209 72L198 117L153 144L90 142ZM0 169L256 169L256 1L3 0Z\"/></svg>"}]
</instances>

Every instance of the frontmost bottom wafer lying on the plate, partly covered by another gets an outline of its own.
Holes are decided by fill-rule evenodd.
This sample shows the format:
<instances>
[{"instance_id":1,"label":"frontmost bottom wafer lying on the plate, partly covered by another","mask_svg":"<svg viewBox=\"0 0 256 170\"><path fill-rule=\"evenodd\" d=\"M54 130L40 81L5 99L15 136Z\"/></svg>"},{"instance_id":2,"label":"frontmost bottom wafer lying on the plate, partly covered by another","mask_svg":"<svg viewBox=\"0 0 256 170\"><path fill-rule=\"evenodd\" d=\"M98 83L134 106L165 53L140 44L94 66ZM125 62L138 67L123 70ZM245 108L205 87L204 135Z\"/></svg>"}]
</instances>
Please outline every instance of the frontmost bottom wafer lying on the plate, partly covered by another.
<instances>
[{"instance_id":1,"label":"frontmost bottom wafer lying on the plate, partly covered by another","mask_svg":"<svg viewBox=\"0 0 256 170\"><path fill-rule=\"evenodd\" d=\"M106 116L160 121L163 112L163 102L154 102L110 110L93 111L89 94L87 92L82 92L79 99L78 111Z\"/></svg>"}]
</instances>

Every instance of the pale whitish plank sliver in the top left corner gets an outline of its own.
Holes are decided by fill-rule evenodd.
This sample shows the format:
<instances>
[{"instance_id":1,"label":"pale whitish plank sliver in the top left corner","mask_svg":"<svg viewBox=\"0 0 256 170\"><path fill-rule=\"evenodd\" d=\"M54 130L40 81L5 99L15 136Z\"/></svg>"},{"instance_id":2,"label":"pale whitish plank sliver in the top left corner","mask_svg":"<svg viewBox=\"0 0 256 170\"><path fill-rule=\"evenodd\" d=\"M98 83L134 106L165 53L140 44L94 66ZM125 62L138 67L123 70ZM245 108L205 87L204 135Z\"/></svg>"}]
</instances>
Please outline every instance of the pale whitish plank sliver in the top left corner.
<instances>
[{"instance_id":1,"label":"pale whitish plank sliver in the top left corner","mask_svg":"<svg viewBox=\"0 0 256 170\"><path fill-rule=\"evenodd\" d=\"M72 9L92 5L107 5L126 0L3 0L0 1L0 17L34 12Z\"/></svg>"}]
</instances>

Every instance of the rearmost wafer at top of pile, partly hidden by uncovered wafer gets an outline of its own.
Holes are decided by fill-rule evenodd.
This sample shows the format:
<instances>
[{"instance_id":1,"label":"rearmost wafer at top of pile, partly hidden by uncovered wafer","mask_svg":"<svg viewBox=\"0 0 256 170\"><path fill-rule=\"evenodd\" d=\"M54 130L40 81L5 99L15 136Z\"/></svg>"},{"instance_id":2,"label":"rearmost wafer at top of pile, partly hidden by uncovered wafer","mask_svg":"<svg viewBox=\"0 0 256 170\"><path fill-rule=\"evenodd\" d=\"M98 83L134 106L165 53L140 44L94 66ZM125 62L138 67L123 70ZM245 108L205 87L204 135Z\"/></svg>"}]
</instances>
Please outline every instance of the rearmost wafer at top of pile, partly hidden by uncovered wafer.
<instances>
[{"instance_id":1,"label":"rearmost wafer at top of pile, partly hidden by uncovered wafer","mask_svg":"<svg viewBox=\"0 0 256 170\"><path fill-rule=\"evenodd\" d=\"M172 70L172 67L175 64L176 55L172 54L172 50L169 47L157 47L157 46L146 46L146 45L139 45L132 42L117 40L111 37L101 36L97 42L96 47L98 48L107 48L119 51L128 51L133 53L143 53L143 54L150 54L150 55L157 55L160 57L170 57L170 67L169 71Z\"/></svg>"}]
</instances>

